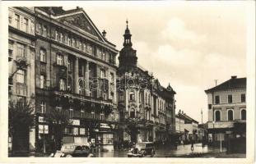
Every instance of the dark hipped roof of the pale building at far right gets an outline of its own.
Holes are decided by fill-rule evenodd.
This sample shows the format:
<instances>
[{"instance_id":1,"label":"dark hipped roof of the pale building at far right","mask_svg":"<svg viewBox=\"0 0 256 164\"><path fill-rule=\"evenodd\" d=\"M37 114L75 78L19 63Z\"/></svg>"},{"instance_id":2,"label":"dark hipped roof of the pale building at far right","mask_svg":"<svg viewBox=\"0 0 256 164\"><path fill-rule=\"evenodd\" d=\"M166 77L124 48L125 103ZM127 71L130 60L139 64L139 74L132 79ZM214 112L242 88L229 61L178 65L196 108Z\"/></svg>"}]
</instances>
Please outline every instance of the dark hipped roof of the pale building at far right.
<instances>
[{"instance_id":1,"label":"dark hipped roof of the pale building at far right","mask_svg":"<svg viewBox=\"0 0 256 164\"><path fill-rule=\"evenodd\" d=\"M227 89L246 89L246 78L236 78L236 76L231 76L230 80L227 80L222 84L216 85L212 89L205 90L205 93L212 93L215 91Z\"/></svg>"}]
</instances>

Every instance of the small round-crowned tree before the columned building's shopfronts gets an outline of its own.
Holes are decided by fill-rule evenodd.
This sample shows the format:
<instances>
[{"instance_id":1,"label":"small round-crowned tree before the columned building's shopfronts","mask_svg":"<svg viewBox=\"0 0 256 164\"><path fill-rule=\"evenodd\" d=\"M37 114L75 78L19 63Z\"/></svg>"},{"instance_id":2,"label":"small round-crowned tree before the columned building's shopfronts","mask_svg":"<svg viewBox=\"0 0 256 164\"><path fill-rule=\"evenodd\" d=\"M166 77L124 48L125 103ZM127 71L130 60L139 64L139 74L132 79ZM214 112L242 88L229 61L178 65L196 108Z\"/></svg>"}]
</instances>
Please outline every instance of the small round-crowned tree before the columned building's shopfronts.
<instances>
[{"instance_id":1,"label":"small round-crowned tree before the columned building's shopfronts","mask_svg":"<svg viewBox=\"0 0 256 164\"><path fill-rule=\"evenodd\" d=\"M49 127L54 136L54 144L59 150L62 146L63 132L67 125L71 123L68 114L64 110L49 110L45 114L45 120L49 123Z\"/></svg>"}]
</instances>

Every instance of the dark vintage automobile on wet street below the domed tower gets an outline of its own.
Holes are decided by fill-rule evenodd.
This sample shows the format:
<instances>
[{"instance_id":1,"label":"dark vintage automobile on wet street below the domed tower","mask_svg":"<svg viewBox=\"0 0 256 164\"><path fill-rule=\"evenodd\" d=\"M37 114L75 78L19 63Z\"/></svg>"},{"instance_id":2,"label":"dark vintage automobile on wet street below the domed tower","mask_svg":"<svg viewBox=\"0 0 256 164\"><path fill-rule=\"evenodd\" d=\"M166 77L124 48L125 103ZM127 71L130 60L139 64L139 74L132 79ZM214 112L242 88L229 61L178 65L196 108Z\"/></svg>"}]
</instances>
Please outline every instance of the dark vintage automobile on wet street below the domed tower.
<instances>
[{"instance_id":1,"label":"dark vintage automobile on wet street below the domed tower","mask_svg":"<svg viewBox=\"0 0 256 164\"><path fill-rule=\"evenodd\" d=\"M144 157L150 155L153 157L155 155L155 147L152 142L142 142L137 143L133 148L128 151L128 157Z\"/></svg>"}]
</instances>

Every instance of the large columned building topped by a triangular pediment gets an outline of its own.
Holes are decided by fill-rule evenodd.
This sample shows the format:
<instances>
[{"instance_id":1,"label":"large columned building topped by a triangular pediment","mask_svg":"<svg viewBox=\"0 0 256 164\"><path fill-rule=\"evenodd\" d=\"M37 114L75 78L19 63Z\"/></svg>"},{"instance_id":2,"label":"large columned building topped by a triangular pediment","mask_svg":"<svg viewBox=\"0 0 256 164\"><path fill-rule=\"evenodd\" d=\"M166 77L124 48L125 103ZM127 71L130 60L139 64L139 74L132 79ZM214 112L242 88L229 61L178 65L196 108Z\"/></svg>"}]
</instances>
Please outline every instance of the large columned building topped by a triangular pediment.
<instances>
[{"instance_id":1,"label":"large columned building topped by a triangular pediment","mask_svg":"<svg viewBox=\"0 0 256 164\"><path fill-rule=\"evenodd\" d=\"M72 125L63 143L113 149L119 112L116 105L115 45L82 8L35 7L35 139L52 138L44 121L51 110L66 111Z\"/></svg>"}]
</instances>

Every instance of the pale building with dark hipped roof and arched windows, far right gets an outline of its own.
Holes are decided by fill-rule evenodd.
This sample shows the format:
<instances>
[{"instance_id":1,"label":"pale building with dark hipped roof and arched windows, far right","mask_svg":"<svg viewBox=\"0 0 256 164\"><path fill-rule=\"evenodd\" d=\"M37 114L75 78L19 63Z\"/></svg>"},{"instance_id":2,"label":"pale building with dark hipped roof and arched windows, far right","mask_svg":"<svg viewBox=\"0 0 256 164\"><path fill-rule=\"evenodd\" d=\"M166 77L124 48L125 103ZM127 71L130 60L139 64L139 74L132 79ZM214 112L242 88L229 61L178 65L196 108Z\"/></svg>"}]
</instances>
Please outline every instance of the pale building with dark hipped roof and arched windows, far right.
<instances>
[{"instance_id":1,"label":"pale building with dark hipped roof and arched windows, far right","mask_svg":"<svg viewBox=\"0 0 256 164\"><path fill-rule=\"evenodd\" d=\"M208 139L224 141L246 132L246 78L230 80L205 90L208 103Z\"/></svg>"}]
</instances>

